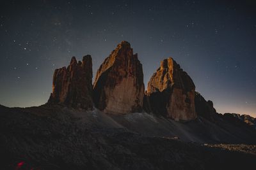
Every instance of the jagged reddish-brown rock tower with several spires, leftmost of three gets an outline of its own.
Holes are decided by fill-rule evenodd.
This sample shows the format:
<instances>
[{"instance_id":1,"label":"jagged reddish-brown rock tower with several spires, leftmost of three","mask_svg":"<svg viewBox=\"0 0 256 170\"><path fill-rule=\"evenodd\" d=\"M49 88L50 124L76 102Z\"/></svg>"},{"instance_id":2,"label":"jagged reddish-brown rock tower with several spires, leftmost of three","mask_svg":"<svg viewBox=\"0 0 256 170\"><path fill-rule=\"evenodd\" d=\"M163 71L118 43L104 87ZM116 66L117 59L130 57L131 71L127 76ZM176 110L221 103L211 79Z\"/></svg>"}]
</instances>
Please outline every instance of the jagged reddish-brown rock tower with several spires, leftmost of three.
<instances>
[{"instance_id":1,"label":"jagged reddish-brown rock tower with several spires, leftmost of three","mask_svg":"<svg viewBox=\"0 0 256 170\"><path fill-rule=\"evenodd\" d=\"M73 108L91 109L92 57L86 55L77 63L72 57L70 65L56 69L53 75L49 104L64 104Z\"/></svg>"}]
</instances>

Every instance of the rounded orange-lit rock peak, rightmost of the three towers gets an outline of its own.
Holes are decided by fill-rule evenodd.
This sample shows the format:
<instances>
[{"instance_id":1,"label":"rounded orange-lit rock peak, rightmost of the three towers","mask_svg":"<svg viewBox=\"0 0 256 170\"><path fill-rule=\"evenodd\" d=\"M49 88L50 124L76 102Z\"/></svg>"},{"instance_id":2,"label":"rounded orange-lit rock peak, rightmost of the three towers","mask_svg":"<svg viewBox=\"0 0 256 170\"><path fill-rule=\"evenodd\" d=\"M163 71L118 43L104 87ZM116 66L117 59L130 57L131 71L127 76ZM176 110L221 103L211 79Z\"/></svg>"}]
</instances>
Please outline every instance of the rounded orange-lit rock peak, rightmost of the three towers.
<instances>
[{"instance_id":1,"label":"rounded orange-lit rock peak, rightmost of the three towers","mask_svg":"<svg viewBox=\"0 0 256 170\"><path fill-rule=\"evenodd\" d=\"M154 113L177 121L196 118L195 85L172 58L164 59L150 78L147 96Z\"/></svg>"}]
</instances>

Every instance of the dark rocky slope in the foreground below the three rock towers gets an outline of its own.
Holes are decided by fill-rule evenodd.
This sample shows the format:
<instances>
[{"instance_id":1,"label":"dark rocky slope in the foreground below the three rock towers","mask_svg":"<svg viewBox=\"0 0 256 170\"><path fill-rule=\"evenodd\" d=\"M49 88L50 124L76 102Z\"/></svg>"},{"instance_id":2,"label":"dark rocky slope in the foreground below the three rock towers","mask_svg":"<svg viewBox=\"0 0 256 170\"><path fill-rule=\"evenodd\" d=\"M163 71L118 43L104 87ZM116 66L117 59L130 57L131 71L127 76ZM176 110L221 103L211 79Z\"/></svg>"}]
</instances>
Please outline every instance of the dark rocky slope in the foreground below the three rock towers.
<instances>
[{"instance_id":1,"label":"dark rocky slope in the foreground below the three rock towers","mask_svg":"<svg viewBox=\"0 0 256 170\"><path fill-rule=\"evenodd\" d=\"M140 122L141 117L144 124ZM157 124L164 121L164 125ZM222 121L227 123L225 119ZM128 124L130 129L125 127ZM244 127L244 134L231 134L228 131L234 131L230 128L236 125L214 127L211 124L204 118L187 124L174 123L148 113L121 118L97 110L61 106L25 109L1 106L1 169L244 169L256 166L255 145L252 145L256 143L255 131ZM203 125L209 128L200 129ZM194 132L189 132L191 127ZM155 135L163 129L163 134ZM199 131L191 136L194 142L189 141L188 136L198 129L205 134L214 131L212 134L216 136L200 137ZM183 132L178 136L173 135L175 131ZM228 143L230 138L234 143L251 145L231 147L236 149L217 145Z\"/></svg>"}]
</instances>

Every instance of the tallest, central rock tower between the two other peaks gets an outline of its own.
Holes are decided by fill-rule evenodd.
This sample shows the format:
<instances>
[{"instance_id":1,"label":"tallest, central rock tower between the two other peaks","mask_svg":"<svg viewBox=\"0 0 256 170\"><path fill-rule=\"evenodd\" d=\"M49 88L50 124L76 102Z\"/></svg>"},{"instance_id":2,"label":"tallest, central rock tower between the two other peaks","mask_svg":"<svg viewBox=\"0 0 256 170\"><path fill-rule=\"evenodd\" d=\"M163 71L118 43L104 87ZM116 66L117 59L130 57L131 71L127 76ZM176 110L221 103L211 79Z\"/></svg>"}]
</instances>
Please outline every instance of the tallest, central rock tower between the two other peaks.
<instances>
[{"instance_id":1,"label":"tallest, central rock tower between the two other peaks","mask_svg":"<svg viewBox=\"0 0 256 170\"><path fill-rule=\"evenodd\" d=\"M143 70L131 45L122 41L99 67L93 83L95 106L106 113L142 110Z\"/></svg>"}]
</instances>

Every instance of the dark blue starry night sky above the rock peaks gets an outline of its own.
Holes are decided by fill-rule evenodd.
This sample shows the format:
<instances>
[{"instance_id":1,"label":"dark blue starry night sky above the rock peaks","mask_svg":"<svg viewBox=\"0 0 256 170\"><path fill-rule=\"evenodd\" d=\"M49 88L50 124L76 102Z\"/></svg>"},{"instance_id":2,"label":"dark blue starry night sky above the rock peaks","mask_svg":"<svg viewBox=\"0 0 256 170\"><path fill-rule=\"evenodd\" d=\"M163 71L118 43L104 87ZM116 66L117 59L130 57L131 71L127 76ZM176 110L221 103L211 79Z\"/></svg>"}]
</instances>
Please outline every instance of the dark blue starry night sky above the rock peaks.
<instances>
[{"instance_id":1,"label":"dark blue starry night sky above the rock peaks","mask_svg":"<svg viewBox=\"0 0 256 170\"><path fill-rule=\"evenodd\" d=\"M173 57L218 112L256 117L256 5L236 2L2 0L0 104L46 103L54 69L90 54L95 75L125 40L145 87Z\"/></svg>"}]
</instances>

